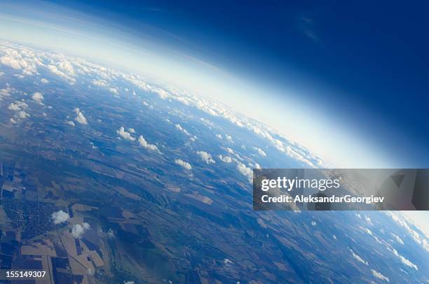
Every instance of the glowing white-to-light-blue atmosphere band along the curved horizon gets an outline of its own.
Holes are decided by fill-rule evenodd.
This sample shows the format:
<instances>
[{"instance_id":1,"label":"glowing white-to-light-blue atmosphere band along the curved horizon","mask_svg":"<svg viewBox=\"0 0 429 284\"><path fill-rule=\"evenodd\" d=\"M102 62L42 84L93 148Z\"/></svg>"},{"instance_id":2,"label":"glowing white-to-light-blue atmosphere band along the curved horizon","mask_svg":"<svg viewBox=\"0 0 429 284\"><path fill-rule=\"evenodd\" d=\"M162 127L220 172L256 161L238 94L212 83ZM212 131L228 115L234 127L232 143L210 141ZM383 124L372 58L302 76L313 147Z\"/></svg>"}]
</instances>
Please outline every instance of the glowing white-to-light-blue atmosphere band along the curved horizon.
<instances>
[{"instance_id":1,"label":"glowing white-to-light-blue atmosphere band along the curved horizon","mask_svg":"<svg viewBox=\"0 0 429 284\"><path fill-rule=\"evenodd\" d=\"M76 7L48 1L32 3L25 9L19 3L1 4L6 7L0 13L1 37L55 48L174 83L277 129L339 167L399 168L426 164L427 151L410 137L403 137L400 129L389 125L383 115L372 113L359 99L341 95L341 90L323 85L321 80L304 78L299 71L290 69L290 87L269 80L269 75L260 76L257 81L257 73L225 69L222 60L216 62L198 52L189 53L192 48L207 47L189 43L161 27L141 22L139 27L144 27L144 31L135 31L117 20L102 20ZM43 5L43 13L37 3ZM54 8L55 13L46 12ZM99 12L103 15L102 10ZM23 15L27 20L23 20ZM30 17L32 21L28 20ZM217 50L209 51L217 54ZM356 120L361 116L365 120Z\"/></svg>"}]
</instances>

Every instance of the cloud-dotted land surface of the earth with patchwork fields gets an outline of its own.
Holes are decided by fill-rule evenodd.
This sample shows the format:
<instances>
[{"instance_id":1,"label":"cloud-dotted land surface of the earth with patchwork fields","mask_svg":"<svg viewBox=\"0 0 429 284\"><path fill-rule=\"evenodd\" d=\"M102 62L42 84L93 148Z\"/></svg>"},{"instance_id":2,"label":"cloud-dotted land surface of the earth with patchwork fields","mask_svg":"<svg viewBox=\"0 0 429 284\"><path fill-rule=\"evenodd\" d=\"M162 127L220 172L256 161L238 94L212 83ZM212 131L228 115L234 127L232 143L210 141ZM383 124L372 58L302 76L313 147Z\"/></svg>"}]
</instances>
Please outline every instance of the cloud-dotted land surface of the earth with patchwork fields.
<instances>
[{"instance_id":1,"label":"cloud-dotted land surface of the earth with patchwork fields","mask_svg":"<svg viewBox=\"0 0 429 284\"><path fill-rule=\"evenodd\" d=\"M259 166L325 164L177 87L0 44L1 269L55 283L429 280L428 236L400 213L252 211Z\"/></svg>"}]
</instances>

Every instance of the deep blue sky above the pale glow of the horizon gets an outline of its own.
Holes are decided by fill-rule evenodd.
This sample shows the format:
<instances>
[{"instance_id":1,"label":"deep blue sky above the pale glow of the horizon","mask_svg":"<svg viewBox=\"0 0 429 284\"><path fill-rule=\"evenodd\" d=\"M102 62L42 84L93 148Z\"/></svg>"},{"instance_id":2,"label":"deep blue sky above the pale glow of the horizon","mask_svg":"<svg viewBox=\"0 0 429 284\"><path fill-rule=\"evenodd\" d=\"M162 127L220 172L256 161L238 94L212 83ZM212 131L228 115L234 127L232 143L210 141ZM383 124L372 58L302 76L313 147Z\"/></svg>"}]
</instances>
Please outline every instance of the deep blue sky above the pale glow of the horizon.
<instances>
[{"instance_id":1,"label":"deep blue sky above the pale glow of the horizon","mask_svg":"<svg viewBox=\"0 0 429 284\"><path fill-rule=\"evenodd\" d=\"M408 166L429 166L428 2L86 2L56 1L223 69L305 90L327 116L391 142L387 150L407 148Z\"/></svg>"}]
</instances>

